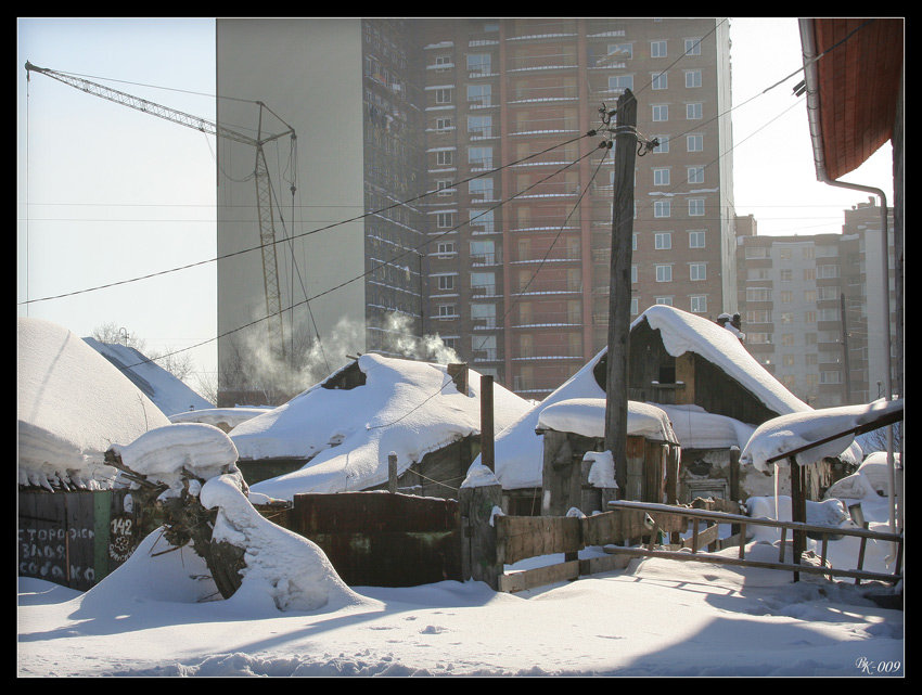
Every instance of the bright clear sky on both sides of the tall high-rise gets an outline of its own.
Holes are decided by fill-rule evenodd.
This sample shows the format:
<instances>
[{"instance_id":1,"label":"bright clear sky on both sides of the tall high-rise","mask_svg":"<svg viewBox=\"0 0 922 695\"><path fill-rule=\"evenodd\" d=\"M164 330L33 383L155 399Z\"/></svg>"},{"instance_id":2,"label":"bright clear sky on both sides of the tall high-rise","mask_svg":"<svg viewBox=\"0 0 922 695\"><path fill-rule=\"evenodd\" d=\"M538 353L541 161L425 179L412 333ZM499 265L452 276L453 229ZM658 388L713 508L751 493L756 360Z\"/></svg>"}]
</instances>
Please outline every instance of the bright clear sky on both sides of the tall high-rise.
<instances>
[{"instance_id":1,"label":"bright clear sky on both sides of the tall high-rise","mask_svg":"<svg viewBox=\"0 0 922 695\"><path fill-rule=\"evenodd\" d=\"M20 17L17 25L18 314L80 336L117 323L156 351L214 338L213 262L20 304L215 257L214 138L43 75L27 83L24 67L28 60L98 78L214 119L214 18ZM803 74L761 93L802 66L797 21L732 18L730 27L737 213L754 215L759 234L841 232L843 210L868 195L817 181L806 105L792 92ZM891 144L844 180L883 189L892 205ZM199 371L214 373L215 342L191 353Z\"/></svg>"}]
</instances>

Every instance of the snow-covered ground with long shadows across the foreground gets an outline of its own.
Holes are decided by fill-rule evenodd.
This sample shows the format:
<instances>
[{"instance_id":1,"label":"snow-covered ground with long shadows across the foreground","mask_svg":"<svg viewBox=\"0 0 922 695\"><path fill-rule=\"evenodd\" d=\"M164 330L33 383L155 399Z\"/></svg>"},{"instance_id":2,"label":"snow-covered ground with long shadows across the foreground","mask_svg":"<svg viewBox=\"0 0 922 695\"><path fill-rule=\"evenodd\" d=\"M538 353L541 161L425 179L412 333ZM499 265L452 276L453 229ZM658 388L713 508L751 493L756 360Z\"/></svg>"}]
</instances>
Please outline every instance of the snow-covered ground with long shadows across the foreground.
<instances>
[{"instance_id":1,"label":"snow-covered ground with long shadows across the foreground","mask_svg":"<svg viewBox=\"0 0 922 695\"><path fill-rule=\"evenodd\" d=\"M177 555L161 557L194 559ZM286 613L117 575L85 594L20 579L21 677L905 674L902 612L850 581L768 569L648 558L517 594L357 588L358 601Z\"/></svg>"}]
</instances>

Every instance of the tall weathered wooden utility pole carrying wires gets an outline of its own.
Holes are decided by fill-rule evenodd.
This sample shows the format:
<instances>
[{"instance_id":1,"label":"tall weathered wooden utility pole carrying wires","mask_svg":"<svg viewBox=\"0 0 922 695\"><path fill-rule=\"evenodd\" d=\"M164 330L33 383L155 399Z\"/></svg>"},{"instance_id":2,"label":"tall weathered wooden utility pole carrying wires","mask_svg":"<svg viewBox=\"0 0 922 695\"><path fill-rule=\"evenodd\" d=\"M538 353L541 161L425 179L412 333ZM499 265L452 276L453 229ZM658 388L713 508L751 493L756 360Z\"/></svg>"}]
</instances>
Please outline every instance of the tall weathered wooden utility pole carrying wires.
<instances>
[{"instance_id":1,"label":"tall weathered wooden utility pole carrying wires","mask_svg":"<svg viewBox=\"0 0 922 695\"><path fill-rule=\"evenodd\" d=\"M609 289L609 352L605 385L605 449L615 462L615 481L627 490L627 362L630 338L630 257L633 237L633 163L637 99L626 89L618 99L615 185Z\"/></svg>"}]
</instances>

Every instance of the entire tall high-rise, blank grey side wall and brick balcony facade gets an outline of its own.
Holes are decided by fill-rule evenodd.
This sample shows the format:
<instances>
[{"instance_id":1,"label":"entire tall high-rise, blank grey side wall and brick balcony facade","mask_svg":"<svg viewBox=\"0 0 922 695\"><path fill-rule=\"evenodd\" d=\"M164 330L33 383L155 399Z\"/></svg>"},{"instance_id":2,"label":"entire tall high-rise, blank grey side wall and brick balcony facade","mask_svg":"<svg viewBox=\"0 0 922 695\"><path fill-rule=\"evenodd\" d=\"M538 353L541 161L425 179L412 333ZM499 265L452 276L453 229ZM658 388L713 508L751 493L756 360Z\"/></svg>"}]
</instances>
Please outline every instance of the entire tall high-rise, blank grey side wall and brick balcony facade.
<instances>
[{"instance_id":1,"label":"entire tall high-rise, blank grey side wall and brick balcony facade","mask_svg":"<svg viewBox=\"0 0 922 695\"><path fill-rule=\"evenodd\" d=\"M297 132L279 286L311 357L438 334L523 396L560 386L607 339L614 152L588 133L625 89L658 141L636 159L632 312L735 309L726 20L218 20L217 66L219 121L244 98ZM241 147L219 150L221 255L255 242ZM225 402L260 392L234 378L269 339L262 274L258 254L218 267Z\"/></svg>"}]
</instances>

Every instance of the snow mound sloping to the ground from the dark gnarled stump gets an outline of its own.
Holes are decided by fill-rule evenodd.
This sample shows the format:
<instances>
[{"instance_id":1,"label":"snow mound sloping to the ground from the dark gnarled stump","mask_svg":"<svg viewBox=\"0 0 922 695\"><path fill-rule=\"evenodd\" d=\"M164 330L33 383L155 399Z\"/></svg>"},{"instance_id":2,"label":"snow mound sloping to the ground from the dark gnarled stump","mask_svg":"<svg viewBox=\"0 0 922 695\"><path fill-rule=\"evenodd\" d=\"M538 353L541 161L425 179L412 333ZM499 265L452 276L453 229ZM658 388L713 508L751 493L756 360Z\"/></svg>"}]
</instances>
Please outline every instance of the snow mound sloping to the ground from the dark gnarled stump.
<instances>
[{"instance_id":1,"label":"snow mound sloping to the ground from the dark gnarled stump","mask_svg":"<svg viewBox=\"0 0 922 695\"><path fill-rule=\"evenodd\" d=\"M228 599L232 604L247 613L253 606L271 613L377 604L349 589L318 545L259 514L231 476L208 480L200 499L206 509L218 509L212 541L246 549L242 583Z\"/></svg>"}]
</instances>

